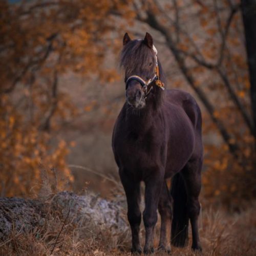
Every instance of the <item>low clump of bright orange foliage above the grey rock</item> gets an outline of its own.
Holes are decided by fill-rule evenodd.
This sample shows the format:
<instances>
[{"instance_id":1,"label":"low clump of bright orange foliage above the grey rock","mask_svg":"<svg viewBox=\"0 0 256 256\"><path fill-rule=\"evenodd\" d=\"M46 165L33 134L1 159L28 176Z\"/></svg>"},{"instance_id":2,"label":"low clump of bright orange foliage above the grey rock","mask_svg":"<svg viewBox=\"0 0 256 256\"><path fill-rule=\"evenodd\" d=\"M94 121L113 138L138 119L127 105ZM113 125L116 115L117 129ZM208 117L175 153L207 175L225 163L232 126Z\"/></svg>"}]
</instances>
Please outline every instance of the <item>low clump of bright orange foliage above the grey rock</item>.
<instances>
[{"instance_id":1,"label":"low clump of bright orange foliage above the grey rock","mask_svg":"<svg viewBox=\"0 0 256 256\"><path fill-rule=\"evenodd\" d=\"M0 156L2 196L31 195L41 184L42 165L61 170L62 186L73 181L66 165L68 148L60 140L51 146L50 134L38 131L36 124L26 121L19 113L9 95L2 96L0 110Z\"/></svg>"}]
</instances>

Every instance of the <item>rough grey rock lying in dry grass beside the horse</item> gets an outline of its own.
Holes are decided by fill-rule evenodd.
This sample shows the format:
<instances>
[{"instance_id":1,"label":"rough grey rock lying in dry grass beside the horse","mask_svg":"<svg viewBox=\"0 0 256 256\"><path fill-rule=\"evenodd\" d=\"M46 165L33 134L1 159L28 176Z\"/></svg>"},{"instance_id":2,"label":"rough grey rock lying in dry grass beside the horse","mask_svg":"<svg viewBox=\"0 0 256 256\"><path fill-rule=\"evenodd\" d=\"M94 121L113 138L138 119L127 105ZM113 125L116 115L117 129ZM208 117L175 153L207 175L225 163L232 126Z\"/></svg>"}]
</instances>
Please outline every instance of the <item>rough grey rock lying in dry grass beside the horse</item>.
<instances>
[{"instance_id":1,"label":"rough grey rock lying in dry grass beside the horse","mask_svg":"<svg viewBox=\"0 0 256 256\"><path fill-rule=\"evenodd\" d=\"M0 198L0 240L8 239L13 229L29 232L44 225L49 212L59 212L61 218L79 225L93 222L111 229L112 233L123 232L128 227L121 209L118 203L95 195L77 196L67 191L47 200Z\"/></svg>"}]
</instances>

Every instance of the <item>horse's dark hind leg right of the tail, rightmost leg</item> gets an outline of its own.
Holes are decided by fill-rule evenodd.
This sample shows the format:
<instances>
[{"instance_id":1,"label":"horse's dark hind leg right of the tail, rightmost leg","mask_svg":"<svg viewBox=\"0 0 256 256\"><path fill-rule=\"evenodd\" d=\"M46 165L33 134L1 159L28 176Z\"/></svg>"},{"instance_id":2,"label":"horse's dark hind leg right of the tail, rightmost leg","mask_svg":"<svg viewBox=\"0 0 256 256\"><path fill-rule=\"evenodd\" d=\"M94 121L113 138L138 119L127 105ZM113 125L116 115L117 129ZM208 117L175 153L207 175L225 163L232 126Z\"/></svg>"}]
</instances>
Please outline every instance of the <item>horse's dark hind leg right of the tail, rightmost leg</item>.
<instances>
[{"instance_id":1,"label":"horse's dark hind leg right of the tail, rightmost leg","mask_svg":"<svg viewBox=\"0 0 256 256\"><path fill-rule=\"evenodd\" d=\"M198 200L201 190L201 168L202 159L189 160L182 174L187 188L187 212L192 229L192 249L202 250L199 232L198 232L198 217L200 213L200 203Z\"/></svg>"}]
</instances>

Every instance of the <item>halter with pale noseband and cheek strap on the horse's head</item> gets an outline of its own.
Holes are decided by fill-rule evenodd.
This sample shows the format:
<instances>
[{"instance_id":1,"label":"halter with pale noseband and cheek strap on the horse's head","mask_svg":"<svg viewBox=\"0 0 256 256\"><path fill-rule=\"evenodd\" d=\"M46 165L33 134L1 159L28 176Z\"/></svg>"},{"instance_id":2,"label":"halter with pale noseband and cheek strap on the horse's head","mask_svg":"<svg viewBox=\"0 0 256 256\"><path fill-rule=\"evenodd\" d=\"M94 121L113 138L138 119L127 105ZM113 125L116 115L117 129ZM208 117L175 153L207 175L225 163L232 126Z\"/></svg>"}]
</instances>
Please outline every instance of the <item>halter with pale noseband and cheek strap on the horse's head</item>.
<instances>
[{"instance_id":1,"label":"halter with pale noseband and cheek strap on the horse's head","mask_svg":"<svg viewBox=\"0 0 256 256\"><path fill-rule=\"evenodd\" d=\"M156 81L156 86L158 86L162 90L164 90L164 83L161 82L160 77L159 77L159 67L158 67L158 61L157 61L157 49L154 45L153 45L153 50L156 54L156 72L155 72L155 75L151 79L148 79L147 81L142 79L140 76L133 75L133 76L130 76L129 78L127 78L127 80L125 82L125 90L126 90L127 87L128 87L128 83L130 81L132 81L132 80L138 81L144 89L144 92L145 92L144 98L146 98L147 95L150 94L150 92L153 88L153 82L154 81Z\"/></svg>"}]
</instances>

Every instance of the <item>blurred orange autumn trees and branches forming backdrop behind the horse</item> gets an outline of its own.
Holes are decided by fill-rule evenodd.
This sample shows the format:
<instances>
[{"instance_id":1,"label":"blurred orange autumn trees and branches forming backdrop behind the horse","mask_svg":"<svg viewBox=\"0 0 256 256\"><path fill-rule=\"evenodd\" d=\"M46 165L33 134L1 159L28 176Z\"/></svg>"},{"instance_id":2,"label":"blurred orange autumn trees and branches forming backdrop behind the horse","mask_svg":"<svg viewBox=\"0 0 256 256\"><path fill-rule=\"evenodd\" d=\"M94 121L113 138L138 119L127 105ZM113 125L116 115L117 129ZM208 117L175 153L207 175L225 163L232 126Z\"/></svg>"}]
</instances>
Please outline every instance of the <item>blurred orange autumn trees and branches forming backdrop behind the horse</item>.
<instances>
[{"instance_id":1,"label":"blurred orange autumn trees and branches forming backdrop behind the horse","mask_svg":"<svg viewBox=\"0 0 256 256\"><path fill-rule=\"evenodd\" d=\"M255 197L251 82L237 0L1 1L1 196L33 195L42 166L75 190L90 181L109 193L112 184L96 173L118 180L111 133L125 100L122 36L146 31L167 88L190 92L203 112L203 204L238 209Z\"/></svg>"}]
</instances>

